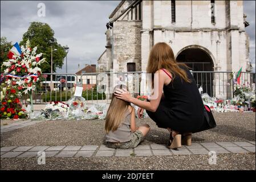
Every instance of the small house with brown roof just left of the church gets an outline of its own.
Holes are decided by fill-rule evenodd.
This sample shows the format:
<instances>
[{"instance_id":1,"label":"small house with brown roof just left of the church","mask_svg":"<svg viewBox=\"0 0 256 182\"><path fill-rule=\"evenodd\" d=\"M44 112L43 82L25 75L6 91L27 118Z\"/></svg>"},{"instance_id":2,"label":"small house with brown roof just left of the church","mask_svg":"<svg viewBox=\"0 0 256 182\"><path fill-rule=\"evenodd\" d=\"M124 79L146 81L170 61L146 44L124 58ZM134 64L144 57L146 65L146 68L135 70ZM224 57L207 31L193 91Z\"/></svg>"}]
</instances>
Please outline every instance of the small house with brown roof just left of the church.
<instances>
[{"instance_id":1,"label":"small house with brown roof just left of the church","mask_svg":"<svg viewBox=\"0 0 256 182\"><path fill-rule=\"evenodd\" d=\"M87 75L87 73L90 73ZM83 90L92 89L96 85L96 75L91 74L96 73L96 64L91 64L86 66L83 69L80 69L78 72L76 72L76 75L78 76L78 81L83 86Z\"/></svg>"}]
</instances>

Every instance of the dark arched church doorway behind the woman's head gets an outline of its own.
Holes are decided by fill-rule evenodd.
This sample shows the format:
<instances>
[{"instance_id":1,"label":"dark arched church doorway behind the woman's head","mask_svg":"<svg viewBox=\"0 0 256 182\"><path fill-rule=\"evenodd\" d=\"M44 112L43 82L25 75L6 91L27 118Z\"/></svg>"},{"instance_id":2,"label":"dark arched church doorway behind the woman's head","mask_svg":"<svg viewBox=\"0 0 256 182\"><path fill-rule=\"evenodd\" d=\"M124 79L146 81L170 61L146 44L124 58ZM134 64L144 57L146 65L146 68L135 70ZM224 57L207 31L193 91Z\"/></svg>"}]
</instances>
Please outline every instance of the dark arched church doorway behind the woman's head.
<instances>
[{"instance_id":1,"label":"dark arched church doorway behind the woman's head","mask_svg":"<svg viewBox=\"0 0 256 182\"><path fill-rule=\"evenodd\" d=\"M208 49L201 46L188 46L182 48L176 55L176 60L188 65L193 71L194 80L198 88L202 86L203 92L213 96L214 61Z\"/></svg>"}]
</instances>

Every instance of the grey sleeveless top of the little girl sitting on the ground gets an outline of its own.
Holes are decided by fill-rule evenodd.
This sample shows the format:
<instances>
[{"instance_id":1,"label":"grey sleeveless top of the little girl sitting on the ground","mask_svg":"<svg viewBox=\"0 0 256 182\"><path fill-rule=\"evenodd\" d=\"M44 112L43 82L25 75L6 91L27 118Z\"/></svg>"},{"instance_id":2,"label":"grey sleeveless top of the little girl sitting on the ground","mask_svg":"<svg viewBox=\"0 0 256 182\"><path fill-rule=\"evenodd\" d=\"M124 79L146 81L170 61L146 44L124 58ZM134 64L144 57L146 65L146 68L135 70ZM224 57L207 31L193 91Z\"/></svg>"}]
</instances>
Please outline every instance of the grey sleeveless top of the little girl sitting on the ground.
<instances>
[{"instance_id":1,"label":"grey sleeveless top of the little girl sitting on the ground","mask_svg":"<svg viewBox=\"0 0 256 182\"><path fill-rule=\"evenodd\" d=\"M109 131L105 135L106 142L128 142L131 140L131 113L127 109L124 114L124 121L120 124L116 131Z\"/></svg>"}]
</instances>

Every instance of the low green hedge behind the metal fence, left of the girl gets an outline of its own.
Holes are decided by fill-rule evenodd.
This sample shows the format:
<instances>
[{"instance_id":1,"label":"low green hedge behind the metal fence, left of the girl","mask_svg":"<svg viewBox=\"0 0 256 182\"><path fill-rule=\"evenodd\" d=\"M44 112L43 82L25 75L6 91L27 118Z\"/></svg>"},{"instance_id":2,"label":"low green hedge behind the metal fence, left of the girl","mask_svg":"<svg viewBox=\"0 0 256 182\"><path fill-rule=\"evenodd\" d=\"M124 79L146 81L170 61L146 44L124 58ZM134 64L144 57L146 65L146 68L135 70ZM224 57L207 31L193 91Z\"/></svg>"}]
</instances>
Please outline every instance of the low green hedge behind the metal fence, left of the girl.
<instances>
[{"instance_id":1,"label":"low green hedge behind the metal fence, left of the girl","mask_svg":"<svg viewBox=\"0 0 256 182\"><path fill-rule=\"evenodd\" d=\"M56 96L56 101L60 101L60 92L52 92L51 93L51 100L52 101L55 101L55 96ZM86 100L105 100L106 96L105 96L105 93L101 94L101 93L96 93L95 91L94 92L91 92L91 90L89 91L88 90L88 96L87 96L87 93L86 91L84 91L82 93L82 96L83 98L85 98ZM66 101L66 92L63 91L62 92L62 101ZM67 92L67 100L69 100L71 98L71 93L70 92ZM43 102L50 102L50 92L48 92L47 94L43 94L42 95L42 100Z\"/></svg>"}]
</instances>

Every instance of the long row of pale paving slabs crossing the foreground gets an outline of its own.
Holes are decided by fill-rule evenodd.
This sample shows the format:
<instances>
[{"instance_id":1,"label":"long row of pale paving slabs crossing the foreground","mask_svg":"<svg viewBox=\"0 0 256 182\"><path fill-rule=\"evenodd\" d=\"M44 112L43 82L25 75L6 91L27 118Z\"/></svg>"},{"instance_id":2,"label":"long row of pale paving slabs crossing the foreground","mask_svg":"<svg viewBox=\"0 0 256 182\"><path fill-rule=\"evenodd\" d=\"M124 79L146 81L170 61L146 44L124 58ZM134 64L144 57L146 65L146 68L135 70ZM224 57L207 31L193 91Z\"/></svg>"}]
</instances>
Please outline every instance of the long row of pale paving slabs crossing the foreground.
<instances>
[{"instance_id":1,"label":"long row of pale paving slabs crossing the foreground","mask_svg":"<svg viewBox=\"0 0 256 182\"><path fill-rule=\"evenodd\" d=\"M97 156L163 156L163 155L209 155L250 153L255 152L255 141L251 142L208 142L192 143L192 146L182 146L178 150L169 150L162 144L140 144L136 148L121 150L108 148L104 145L86 146L9 146L1 147L1 158L28 158L44 151L46 157L97 157Z\"/></svg>"}]
</instances>

